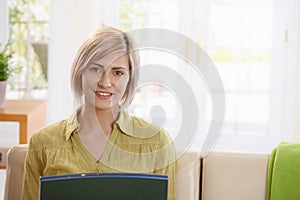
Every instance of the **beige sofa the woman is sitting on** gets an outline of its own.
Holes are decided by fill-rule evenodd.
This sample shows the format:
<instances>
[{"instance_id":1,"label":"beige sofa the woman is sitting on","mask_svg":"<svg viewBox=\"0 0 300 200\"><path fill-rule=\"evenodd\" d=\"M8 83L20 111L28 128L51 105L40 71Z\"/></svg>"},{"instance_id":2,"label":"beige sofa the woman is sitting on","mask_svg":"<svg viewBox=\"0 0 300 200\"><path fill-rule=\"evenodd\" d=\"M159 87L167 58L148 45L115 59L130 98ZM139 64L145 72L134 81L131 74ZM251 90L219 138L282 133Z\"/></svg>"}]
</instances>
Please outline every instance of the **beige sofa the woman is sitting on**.
<instances>
[{"instance_id":1,"label":"beige sofa the woman is sitting on","mask_svg":"<svg viewBox=\"0 0 300 200\"><path fill-rule=\"evenodd\" d=\"M8 152L5 200L19 200L26 145ZM186 152L178 160L178 200L265 200L269 155Z\"/></svg>"}]
</instances>

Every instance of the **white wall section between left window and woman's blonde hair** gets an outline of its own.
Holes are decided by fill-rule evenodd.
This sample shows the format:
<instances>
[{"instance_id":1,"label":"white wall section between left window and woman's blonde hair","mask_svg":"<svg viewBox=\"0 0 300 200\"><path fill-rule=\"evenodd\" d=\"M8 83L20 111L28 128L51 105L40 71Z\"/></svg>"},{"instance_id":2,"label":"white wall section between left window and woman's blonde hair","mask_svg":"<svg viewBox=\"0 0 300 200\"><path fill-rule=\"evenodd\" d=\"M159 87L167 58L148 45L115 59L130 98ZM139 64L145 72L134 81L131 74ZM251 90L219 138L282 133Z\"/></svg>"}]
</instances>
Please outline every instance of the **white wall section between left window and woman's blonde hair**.
<instances>
[{"instance_id":1,"label":"white wall section between left window and woman's blonde hair","mask_svg":"<svg viewBox=\"0 0 300 200\"><path fill-rule=\"evenodd\" d=\"M101 25L116 23L115 0L51 0L47 123L73 112L70 69L83 40Z\"/></svg>"}]
</instances>

